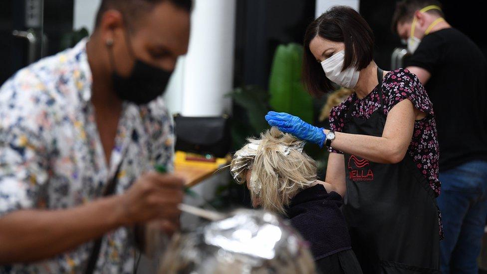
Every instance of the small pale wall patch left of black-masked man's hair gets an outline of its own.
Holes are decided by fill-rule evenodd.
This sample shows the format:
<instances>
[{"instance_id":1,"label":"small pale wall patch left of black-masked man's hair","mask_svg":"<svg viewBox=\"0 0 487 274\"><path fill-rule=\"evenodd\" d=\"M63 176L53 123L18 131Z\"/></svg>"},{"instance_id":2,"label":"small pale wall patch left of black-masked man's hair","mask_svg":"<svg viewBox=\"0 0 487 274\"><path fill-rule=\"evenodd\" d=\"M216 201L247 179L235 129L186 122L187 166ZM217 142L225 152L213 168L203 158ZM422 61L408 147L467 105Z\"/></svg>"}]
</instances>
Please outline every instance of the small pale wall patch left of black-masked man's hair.
<instances>
[{"instance_id":1,"label":"small pale wall patch left of black-masked man's hair","mask_svg":"<svg viewBox=\"0 0 487 274\"><path fill-rule=\"evenodd\" d=\"M101 0L74 0L73 28L86 27L91 34L100 3Z\"/></svg>"}]
</instances>

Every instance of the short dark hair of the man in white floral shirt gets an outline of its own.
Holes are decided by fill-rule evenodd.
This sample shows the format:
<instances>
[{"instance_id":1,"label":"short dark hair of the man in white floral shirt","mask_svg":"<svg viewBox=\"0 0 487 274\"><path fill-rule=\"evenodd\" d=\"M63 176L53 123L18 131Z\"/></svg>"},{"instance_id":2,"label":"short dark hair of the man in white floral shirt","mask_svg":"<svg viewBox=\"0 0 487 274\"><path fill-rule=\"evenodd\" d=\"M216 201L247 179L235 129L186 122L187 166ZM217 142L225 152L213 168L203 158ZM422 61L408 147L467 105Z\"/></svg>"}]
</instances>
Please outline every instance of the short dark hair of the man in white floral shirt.
<instances>
[{"instance_id":1,"label":"short dark hair of the man in white floral shirt","mask_svg":"<svg viewBox=\"0 0 487 274\"><path fill-rule=\"evenodd\" d=\"M109 9L117 9L124 15L124 19L132 22L143 12L150 11L154 5L170 1L177 7L191 12L193 0L102 0L96 14L95 28L100 24L103 13ZM129 27L133 27L129 25Z\"/></svg>"}]
</instances>

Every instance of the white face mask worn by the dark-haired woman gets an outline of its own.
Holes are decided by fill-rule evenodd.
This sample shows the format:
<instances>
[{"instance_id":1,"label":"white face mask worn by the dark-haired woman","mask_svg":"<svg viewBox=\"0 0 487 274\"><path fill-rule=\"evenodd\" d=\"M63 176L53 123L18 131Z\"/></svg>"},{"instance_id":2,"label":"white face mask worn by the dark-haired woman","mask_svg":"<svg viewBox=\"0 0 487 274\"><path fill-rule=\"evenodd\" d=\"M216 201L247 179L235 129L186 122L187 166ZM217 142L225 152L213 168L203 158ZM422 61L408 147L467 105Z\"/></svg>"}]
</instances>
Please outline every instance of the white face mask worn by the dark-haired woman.
<instances>
[{"instance_id":1,"label":"white face mask worn by the dark-haired woman","mask_svg":"<svg viewBox=\"0 0 487 274\"><path fill-rule=\"evenodd\" d=\"M343 87L354 88L357 85L360 71L355 70L353 66L342 71L344 59L345 51L341 50L321 62L321 66L328 79Z\"/></svg>"}]
</instances>

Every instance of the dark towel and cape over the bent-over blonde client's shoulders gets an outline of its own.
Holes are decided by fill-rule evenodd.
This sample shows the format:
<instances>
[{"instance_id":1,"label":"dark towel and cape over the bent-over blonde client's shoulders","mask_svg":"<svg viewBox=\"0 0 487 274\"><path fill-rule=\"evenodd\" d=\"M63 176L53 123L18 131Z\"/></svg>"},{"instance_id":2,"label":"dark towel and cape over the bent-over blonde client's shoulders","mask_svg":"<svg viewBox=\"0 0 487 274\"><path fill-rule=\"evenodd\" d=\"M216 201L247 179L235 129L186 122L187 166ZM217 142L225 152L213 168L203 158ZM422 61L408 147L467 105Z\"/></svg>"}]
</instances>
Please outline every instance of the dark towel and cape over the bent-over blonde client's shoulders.
<instances>
[{"instance_id":1,"label":"dark towel and cape over the bent-over blonde client's shoulders","mask_svg":"<svg viewBox=\"0 0 487 274\"><path fill-rule=\"evenodd\" d=\"M317 184L291 199L286 207L291 225L310 244L316 266L322 273L362 273L351 250L345 218L336 192L327 193Z\"/></svg>"}]
</instances>

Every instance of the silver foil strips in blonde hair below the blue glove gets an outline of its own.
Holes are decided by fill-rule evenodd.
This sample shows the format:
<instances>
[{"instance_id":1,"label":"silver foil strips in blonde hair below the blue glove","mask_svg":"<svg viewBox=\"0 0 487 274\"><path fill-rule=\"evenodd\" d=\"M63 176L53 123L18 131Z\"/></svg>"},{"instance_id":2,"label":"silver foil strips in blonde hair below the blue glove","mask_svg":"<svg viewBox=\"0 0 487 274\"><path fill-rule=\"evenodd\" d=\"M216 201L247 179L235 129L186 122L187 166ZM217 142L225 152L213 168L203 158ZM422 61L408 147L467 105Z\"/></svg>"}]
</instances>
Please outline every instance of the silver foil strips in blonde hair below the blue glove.
<instances>
[{"instance_id":1,"label":"silver foil strips in blonde hair below the blue glove","mask_svg":"<svg viewBox=\"0 0 487 274\"><path fill-rule=\"evenodd\" d=\"M249 143L244 145L242 149L236 152L230 173L237 183L245 183L244 171L251 168L253 159L257 155L260 148L261 141L262 140L248 139ZM296 150L299 153L302 153L305 144L305 141L296 141L290 145L281 144L276 146L276 152L279 152L284 156L289 155L291 150ZM255 176L256 174L252 174L252 176L250 176L249 187L252 188L255 193L259 193L262 185L256 180Z\"/></svg>"}]
</instances>

